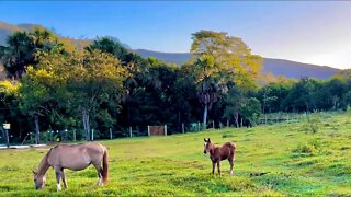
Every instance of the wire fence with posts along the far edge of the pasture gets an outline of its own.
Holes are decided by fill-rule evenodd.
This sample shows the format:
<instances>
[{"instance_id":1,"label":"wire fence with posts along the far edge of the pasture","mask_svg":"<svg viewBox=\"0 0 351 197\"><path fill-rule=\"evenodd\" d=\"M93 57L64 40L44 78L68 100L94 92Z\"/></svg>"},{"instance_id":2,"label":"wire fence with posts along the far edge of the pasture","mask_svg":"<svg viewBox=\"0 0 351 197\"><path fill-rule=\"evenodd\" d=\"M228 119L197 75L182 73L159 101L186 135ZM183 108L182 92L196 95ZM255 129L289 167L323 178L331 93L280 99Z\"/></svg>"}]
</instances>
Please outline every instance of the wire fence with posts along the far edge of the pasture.
<instances>
[{"instance_id":1,"label":"wire fence with posts along the far edge of the pasture","mask_svg":"<svg viewBox=\"0 0 351 197\"><path fill-rule=\"evenodd\" d=\"M272 114L263 114L258 119L257 125L272 125L279 124L282 121L298 121L302 118L306 117L306 114L293 114L293 113L272 113ZM104 130L91 129L90 139L91 140L113 140L117 138L134 138L134 137L149 137L150 135L150 126L134 126L127 128L107 128ZM166 134L174 135L174 134L186 134L186 132L199 132L204 129L222 129L228 127L246 127L242 123L242 119L239 125L237 125L234 120L226 119L224 121L214 121L210 120L204 127L202 123L189 123L189 124L179 124L179 125L158 125L158 127L165 127ZM39 132L41 143L52 144L59 142L76 142L76 141L84 141L86 135L82 129L64 129L64 130L46 130ZM23 140L14 140L14 137L11 136L11 130L9 130L9 141L10 144L34 144L35 143L35 132L30 131L24 134L25 137ZM159 135L158 135L159 136ZM5 146L7 136L4 129L0 129L0 147Z\"/></svg>"}]
</instances>

